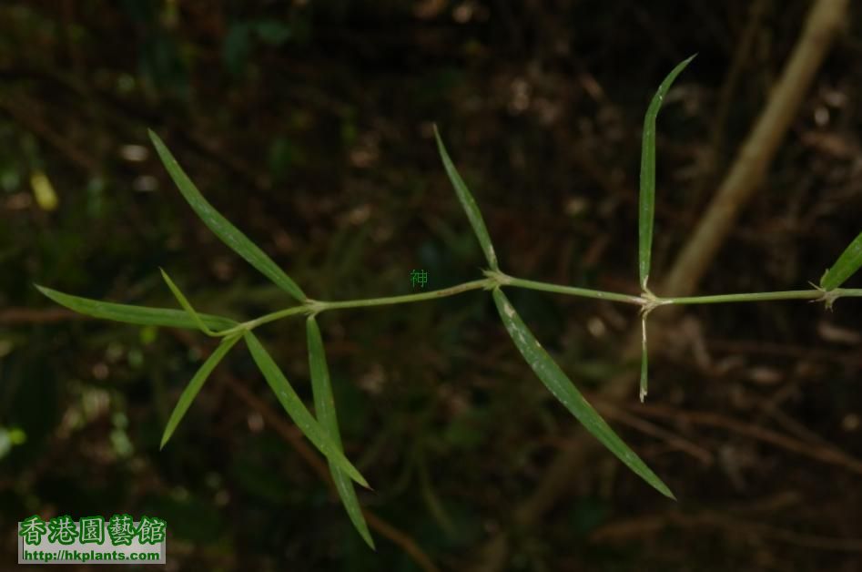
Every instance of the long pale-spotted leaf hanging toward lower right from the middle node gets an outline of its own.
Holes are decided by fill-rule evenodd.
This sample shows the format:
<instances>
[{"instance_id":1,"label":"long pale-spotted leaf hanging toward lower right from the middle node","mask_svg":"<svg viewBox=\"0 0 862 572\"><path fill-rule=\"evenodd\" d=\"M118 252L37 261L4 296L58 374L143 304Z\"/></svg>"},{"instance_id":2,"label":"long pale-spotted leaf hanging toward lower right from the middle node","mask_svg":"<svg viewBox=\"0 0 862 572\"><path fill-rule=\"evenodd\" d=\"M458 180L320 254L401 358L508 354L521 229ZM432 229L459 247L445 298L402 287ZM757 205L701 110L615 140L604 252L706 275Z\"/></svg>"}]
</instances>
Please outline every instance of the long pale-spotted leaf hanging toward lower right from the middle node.
<instances>
[{"instance_id":1,"label":"long pale-spotted leaf hanging toward lower right from the middle node","mask_svg":"<svg viewBox=\"0 0 862 572\"><path fill-rule=\"evenodd\" d=\"M587 431L593 434L611 453L617 456L626 466L639 475L649 485L662 495L674 498L667 485L656 476L653 471L644 464L623 440L614 433L614 430L605 423L604 419L593 406L583 398L581 392L574 386L572 381L563 373L560 366L553 361L548 352L544 351L542 345L536 340L532 332L521 320L521 316L512 307L512 303L506 298L499 288L493 290L494 302L500 312L502 323L506 331L512 337L523 359L530 365L532 371L542 380L545 387L553 393L560 403L565 405L578 421L583 424Z\"/></svg>"}]
</instances>

